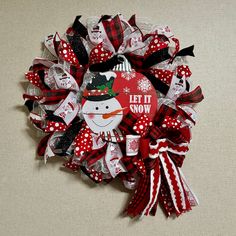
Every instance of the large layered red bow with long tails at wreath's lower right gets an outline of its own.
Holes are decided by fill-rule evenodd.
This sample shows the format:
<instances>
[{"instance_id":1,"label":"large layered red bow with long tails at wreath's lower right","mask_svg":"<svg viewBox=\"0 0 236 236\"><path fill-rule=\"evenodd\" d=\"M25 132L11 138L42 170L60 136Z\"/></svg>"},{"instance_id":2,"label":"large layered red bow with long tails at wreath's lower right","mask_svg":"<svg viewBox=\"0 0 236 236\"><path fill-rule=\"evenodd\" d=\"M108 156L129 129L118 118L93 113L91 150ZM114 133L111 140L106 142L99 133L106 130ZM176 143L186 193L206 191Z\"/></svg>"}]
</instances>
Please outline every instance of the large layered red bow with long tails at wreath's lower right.
<instances>
[{"instance_id":1,"label":"large layered red bow with long tails at wreath's lower right","mask_svg":"<svg viewBox=\"0 0 236 236\"><path fill-rule=\"evenodd\" d=\"M183 127L178 115L177 110L163 104L152 122L147 117L138 118L129 113L119 126L123 132L135 131L142 136L141 158L134 157L129 161L127 157L123 158L129 173L137 173L131 171L137 169L134 165L137 160L144 163L145 169L143 172L139 170L142 175L137 191L126 209L131 216L155 214L157 201L163 205L167 215L180 215L197 204L178 168L183 163L190 141L189 128Z\"/></svg>"}]
</instances>

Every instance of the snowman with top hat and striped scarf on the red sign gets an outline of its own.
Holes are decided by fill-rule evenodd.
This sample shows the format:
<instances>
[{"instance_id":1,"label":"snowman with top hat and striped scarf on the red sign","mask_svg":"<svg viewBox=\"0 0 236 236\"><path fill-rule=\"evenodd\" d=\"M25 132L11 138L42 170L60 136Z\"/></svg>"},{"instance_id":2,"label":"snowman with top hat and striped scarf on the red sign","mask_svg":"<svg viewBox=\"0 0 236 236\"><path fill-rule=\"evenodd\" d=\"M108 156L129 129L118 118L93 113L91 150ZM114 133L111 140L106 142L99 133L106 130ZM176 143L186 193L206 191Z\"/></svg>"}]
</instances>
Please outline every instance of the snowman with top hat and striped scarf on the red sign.
<instances>
[{"instance_id":1,"label":"snowman with top hat and striped scarf on the red sign","mask_svg":"<svg viewBox=\"0 0 236 236\"><path fill-rule=\"evenodd\" d=\"M109 141L122 140L117 126L123 118L122 107L117 100L118 93L113 91L116 78L114 72L98 73L88 83L83 93L86 100L82 107L84 119L94 133L100 133Z\"/></svg>"}]
</instances>

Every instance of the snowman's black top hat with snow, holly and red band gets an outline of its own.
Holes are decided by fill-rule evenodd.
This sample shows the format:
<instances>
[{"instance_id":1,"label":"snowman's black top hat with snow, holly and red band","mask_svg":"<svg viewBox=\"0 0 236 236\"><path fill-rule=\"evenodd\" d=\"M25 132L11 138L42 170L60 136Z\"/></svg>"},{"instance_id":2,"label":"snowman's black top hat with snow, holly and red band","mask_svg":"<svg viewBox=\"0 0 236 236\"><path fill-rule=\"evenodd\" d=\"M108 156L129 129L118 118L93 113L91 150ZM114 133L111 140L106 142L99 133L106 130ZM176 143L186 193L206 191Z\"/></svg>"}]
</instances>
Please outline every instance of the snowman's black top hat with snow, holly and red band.
<instances>
[{"instance_id":1,"label":"snowman's black top hat with snow, holly and red band","mask_svg":"<svg viewBox=\"0 0 236 236\"><path fill-rule=\"evenodd\" d=\"M89 101L104 101L116 97L119 93L112 89L115 78L116 73L112 71L97 73L87 84L83 97Z\"/></svg>"}]
</instances>

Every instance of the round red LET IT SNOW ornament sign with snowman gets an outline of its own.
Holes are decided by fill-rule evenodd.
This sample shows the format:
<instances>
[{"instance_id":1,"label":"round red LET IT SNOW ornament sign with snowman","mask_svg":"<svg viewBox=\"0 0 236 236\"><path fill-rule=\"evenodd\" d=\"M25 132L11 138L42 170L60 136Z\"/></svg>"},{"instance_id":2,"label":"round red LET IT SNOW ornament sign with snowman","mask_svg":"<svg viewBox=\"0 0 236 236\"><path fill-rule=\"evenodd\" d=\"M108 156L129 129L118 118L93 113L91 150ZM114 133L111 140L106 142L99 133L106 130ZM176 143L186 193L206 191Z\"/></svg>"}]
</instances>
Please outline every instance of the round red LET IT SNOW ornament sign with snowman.
<instances>
[{"instance_id":1,"label":"round red LET IT SNOW ornament sign with snowman","mask_svg":"<svg viewBox=\"0 0 236 236\"><path fill-rule=\"evenodd\" d=\"M97 73L83 92L85 122L92 132L111 142L123 141L118 125L130 110L152 119L156 109L155 89L146 77L134 71Z\"/></svg>"}]
</instances>

